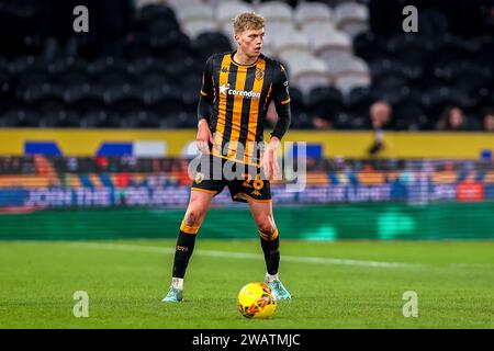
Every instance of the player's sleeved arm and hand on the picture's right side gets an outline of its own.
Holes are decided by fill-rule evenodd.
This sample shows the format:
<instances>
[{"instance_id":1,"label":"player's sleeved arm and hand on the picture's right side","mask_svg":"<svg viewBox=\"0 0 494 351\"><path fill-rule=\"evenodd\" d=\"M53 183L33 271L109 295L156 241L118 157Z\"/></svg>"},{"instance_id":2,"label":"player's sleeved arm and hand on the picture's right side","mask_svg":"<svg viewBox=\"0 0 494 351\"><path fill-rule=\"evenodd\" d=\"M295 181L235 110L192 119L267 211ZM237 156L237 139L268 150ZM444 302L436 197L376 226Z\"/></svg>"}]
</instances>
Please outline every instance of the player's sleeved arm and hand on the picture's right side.
<instances>
[{"instance_id":1,"label":"player's sleeved arm and hand on the picture's right side","mask_svg":"<svg viewBox=\"0 0 494 351\"><path fill-rule=\"evenodd\" d=\"M266 147L262 158L262 167L268 179L281 179L281 173L277 160L277 149L281 138L290 127L292 120L290 111L290 92L287 70L279 65L276 68L272 83L272 99L278 114L278 121L271 132L271 138Z\"/></svg>"}]
</instances>

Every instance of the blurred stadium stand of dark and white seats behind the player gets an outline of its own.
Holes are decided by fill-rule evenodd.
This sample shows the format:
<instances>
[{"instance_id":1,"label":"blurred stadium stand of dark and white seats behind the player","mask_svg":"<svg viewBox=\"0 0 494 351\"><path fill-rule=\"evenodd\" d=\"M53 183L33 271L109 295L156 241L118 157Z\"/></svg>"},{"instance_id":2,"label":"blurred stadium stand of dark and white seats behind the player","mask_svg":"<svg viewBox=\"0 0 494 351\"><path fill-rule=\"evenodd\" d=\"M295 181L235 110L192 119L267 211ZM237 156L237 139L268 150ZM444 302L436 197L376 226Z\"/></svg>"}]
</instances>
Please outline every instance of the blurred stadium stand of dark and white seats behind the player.
<instances>
[{"instance_id":1,"label":"blurred stadium stand of dark and white seats behind the player","mask_svg":"<svg viewBox=\"0 0 494 351\"><path fill-rule=\"evenodd\" d=\"M337 129L369 128L369 106L382 100L394 129L436 129L456 105L464 129L480 131L494 105L489 7L467 8L479 19L467 29L463 8L438 1L425 8L422 31L407 35L401 18L383 20L388 3L372 0L122 1L81 39L30 22L57 13L42 2L0 2L1 29L18 29L1 31L2 127L195 127L204 61L234 48L231 20L242 11L267 20L263 52L289 70L296 128L314 128L317 117Z\"/></svg>"}]
</instances>

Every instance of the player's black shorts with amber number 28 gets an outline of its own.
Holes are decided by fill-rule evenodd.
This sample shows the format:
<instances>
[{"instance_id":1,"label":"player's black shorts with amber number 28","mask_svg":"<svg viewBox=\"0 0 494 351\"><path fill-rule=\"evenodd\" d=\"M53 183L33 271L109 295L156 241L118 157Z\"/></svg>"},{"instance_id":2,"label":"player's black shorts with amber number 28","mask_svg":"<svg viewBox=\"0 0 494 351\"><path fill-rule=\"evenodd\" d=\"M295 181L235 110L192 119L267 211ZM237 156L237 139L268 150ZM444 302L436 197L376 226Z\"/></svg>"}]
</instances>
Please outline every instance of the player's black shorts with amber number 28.
<instances>
[{"instance_id":1,"label":"player's black shorts with amber number 28","mask_svg":"<svg viewBox=\"0 0 494 351\"><path fill-rule=\"evenodd\" d=\"M247 202L247 199L251 199L258 202L270 202L271 188L269 180L266 180L262 174L260 167L246 166L207 155L201 157L191 188L214 193L216 196L225 186L228 186L233 201Z\"/></svg>"}]
</instances>

